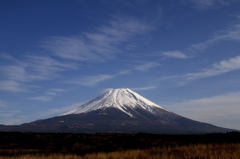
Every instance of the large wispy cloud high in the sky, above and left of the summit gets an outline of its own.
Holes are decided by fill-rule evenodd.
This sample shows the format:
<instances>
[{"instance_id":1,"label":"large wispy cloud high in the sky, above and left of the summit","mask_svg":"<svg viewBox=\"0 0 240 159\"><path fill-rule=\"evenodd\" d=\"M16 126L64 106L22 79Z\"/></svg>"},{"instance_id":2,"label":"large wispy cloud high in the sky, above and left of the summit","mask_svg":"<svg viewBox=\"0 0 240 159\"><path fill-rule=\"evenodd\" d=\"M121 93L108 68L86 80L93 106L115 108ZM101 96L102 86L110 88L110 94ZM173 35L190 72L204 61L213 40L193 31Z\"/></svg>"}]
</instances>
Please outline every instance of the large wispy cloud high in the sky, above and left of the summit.
<instances>
[{"instance_id":1,"label":"large wispy cloud high in the sky, above and left of the summit","mask_svg":"<svg viewBox=\"0 0 240 159\"><path fill-rule=\"evenodd\" d=\"M132 17L113 17L108 24L99 26L95 32L79 36L51 37L43 48L53 55L77 61L102 61L112 58L132 44L132 38L143 35L153 27Z\"/></svg>"}]
</instances>

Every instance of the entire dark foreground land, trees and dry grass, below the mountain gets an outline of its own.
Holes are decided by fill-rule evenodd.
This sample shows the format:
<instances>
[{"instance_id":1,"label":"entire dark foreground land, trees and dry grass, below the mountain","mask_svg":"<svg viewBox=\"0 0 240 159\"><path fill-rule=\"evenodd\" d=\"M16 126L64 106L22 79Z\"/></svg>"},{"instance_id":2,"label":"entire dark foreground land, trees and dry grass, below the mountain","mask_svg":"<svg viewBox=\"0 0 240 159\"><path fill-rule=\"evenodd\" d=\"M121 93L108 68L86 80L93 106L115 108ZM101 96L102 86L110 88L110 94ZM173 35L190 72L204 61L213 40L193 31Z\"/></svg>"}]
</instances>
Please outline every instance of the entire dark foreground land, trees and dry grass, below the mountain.
<instances>
[{"instance_id":1,"label":"entire dark foreground land, trees and dry grass, below the mountain","mask_svg":"<svg viewBox=\"0 0 240 159\"><path fill-rule=\"evenodd\" d=\"M0 132L0 159L239 159L240 133Z\"/></svg>"}]
</instances>

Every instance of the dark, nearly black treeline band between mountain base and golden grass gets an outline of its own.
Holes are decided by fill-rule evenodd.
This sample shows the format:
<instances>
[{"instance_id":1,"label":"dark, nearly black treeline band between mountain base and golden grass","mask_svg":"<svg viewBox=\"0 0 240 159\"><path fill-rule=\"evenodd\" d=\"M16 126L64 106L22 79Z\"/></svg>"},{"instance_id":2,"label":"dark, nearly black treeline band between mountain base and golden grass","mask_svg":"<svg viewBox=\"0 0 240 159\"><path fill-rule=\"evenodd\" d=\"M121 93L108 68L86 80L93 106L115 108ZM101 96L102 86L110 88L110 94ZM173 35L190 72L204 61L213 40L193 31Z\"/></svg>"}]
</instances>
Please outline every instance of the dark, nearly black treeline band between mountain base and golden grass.
<instances>
[{"instance_id":1,"label":"dark, nearly black treeline band between mountain base and golden grass","mask_svg":"<svg viewBox=\"0 0 240 159\"><path fill-rule=\"evenodd\" d=\"M0 155L26 153L84 155L92 152L219 143L240 143L240 133L160 135L0 132Z\"/></svg>"}]
</instances>

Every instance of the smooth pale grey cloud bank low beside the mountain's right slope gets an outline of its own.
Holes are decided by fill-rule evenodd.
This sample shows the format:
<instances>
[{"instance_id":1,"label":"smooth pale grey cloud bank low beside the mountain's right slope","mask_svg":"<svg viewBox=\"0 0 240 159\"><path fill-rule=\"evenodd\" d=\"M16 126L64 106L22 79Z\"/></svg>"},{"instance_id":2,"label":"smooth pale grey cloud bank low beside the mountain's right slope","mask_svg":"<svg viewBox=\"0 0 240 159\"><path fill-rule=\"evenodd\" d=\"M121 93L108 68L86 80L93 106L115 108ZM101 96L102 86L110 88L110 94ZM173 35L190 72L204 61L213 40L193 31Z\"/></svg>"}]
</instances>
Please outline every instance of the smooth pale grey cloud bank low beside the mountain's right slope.
<instances>
[{"instance_id":1,"label":"smooth pale grey cloud bank low beside the mountain's right slope","mask_svg":"<svg viewBox=\"0 0 240 159\"><path fill-rule=\"evenodd\" d=\"M202 122L240 129L240 92L165 104L169 110Z\"/></svg>"}]
</instances>

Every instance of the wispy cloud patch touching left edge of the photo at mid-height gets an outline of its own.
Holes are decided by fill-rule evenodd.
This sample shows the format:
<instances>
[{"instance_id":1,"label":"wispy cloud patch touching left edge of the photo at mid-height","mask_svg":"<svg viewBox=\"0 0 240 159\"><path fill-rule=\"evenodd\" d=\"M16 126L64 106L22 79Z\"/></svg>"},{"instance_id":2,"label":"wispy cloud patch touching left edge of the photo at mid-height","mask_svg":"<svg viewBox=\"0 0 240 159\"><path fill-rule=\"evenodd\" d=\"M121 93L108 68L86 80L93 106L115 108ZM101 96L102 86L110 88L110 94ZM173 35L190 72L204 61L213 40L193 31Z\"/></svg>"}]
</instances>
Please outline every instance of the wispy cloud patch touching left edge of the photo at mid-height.
<instances>
[{"instance_id":1,"label":"wispy cloud patch touching left edge of the photo at mid-height","mask_svg":"<svg viewBox=\"0 0 240 159\"><path fill-rule=\"evenodd\" d=\"M78 68L76 63L61 62L49 56L25 55L21 61L7 54L1 57L8 63L0 66L0 90L11 92L27 91L31 87L27 83L59 78L59 72Z\"/></svg>"}]
</instances>

